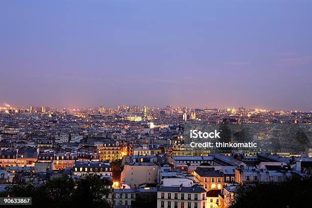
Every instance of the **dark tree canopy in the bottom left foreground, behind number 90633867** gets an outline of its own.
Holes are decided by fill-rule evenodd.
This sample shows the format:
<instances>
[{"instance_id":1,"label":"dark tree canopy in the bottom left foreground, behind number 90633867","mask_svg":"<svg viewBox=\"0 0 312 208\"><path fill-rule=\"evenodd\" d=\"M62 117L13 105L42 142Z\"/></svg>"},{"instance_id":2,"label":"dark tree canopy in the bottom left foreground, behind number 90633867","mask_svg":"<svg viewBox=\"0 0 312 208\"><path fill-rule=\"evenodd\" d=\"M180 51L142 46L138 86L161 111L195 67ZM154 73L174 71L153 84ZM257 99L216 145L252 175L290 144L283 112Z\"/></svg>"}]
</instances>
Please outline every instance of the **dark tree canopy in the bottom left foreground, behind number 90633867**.
<instances>
[{"instance_id":1,"label":"dark tree canopy in the bottom left foreground, behind number 90633867","mask_svg":"<svg viewBox=\"0 0 312 208\"><path fill-rule=\"evenodd\" d=\"M31 207L110 207L103 199L110 190L97 176L73 180L67 177L48 180L42 186L18 184L10 187L1 197L32 197ZM11 205L10 207L15 207ZM23 207L18 205L16 207ZM24 206L30 207L30 206Z\"/></svg>"}]
</instances>

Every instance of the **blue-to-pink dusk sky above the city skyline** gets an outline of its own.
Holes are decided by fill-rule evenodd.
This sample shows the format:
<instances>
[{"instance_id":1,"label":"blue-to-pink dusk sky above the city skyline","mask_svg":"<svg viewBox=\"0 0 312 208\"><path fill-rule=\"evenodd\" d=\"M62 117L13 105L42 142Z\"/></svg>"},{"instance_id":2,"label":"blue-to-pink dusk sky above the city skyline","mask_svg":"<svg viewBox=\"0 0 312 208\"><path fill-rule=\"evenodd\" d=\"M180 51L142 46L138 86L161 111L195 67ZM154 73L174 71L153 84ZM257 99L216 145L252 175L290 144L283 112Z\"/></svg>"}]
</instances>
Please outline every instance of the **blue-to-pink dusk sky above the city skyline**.
<instances>
[{"instance_id":1,"label":"blue-to-pink dusk sky above the city skyline","mask_svg":"<svg viewBox=\"0 0 312 208\"><path fill-rule=\"evenodd\" d=\"M312 1L0 3L0 105L312 110Z\"/></svg>"}]
</instances>

